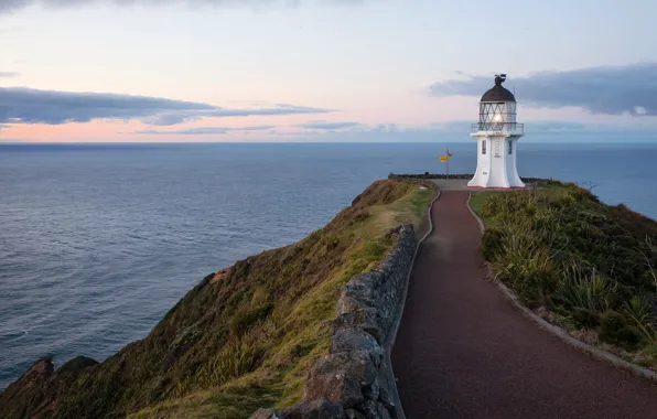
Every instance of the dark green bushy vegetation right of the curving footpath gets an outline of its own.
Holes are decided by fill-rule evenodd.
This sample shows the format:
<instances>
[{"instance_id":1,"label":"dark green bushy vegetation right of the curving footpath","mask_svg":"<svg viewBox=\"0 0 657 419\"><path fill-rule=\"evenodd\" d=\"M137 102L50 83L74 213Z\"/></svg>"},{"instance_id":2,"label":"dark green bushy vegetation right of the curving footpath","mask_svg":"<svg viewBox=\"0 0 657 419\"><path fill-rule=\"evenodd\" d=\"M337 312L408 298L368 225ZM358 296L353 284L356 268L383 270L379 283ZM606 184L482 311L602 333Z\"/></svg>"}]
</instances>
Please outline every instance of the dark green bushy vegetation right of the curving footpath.
<instances>
[{"instance_id":1,"label":"dark green bushy vegetation right of the curving footpath","mask_svg":"<svg viewBox=\"0 0 657 419\"><path fill-rule=\"evenodd\" d=\"M495 278L572 335L657 366L657 223L560 182L471 204Z\"/></svg>"}]
</instances>

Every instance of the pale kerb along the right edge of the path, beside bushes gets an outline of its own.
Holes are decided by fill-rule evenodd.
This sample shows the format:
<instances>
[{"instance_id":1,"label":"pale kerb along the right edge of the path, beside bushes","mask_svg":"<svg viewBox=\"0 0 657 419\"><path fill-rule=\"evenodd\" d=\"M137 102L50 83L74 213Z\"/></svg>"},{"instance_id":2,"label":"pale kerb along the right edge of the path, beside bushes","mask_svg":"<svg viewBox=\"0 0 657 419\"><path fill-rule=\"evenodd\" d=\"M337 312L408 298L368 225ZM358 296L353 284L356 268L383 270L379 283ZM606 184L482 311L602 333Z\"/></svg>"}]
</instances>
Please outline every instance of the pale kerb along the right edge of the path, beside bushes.
<instances>
[{"instance_id":1,"label":"pale kerb along the right edge of the path, beside bushes","mask_svg":"<svg viewBox=\"0 0 657 419\"><path fill-rule=\"evenodd\" d=\"M470 192L467 195L467 203L466 203L467 210L470 211L472 216L477 221L477 224L480 225L481 234L483 236L484 230L485 230L484 223L482 222L480 216L474 212L474 210L472 210L472 206L470 206L471 197L472 197L472 192ZM654 370L644 368L637 364L629 363L629 362L627 362L610 352L603 351L601 348L589 345L588 343L584 343L578 339L572 337L563 329L549 323L548 321L546 321L545 319L542 319L541 316L539 316L538 314L536 314L535 312L532 312L531 310L529 310L528 308L523 305L520 303L520 301L518 300L518 297L516 296L516 293L511 289L509 289L507 286L505 286L500 281L494 281L494 282L499 288L499 291L514 304L514 307L517 310L519 310L526 318L528 318L529 320L532 320L535 323L537 323L539 327L548 331L549 333L559 337L567 344L574 346L575 348L588 353L589 355L591 355L592 357L594 357L599 361L607 362L615 367L626 369L634 375L637 375L642 378L647 378L647 379L651 380L653 383L657 383L657 373L655 373Z\"/></svg>"}]
</instances>

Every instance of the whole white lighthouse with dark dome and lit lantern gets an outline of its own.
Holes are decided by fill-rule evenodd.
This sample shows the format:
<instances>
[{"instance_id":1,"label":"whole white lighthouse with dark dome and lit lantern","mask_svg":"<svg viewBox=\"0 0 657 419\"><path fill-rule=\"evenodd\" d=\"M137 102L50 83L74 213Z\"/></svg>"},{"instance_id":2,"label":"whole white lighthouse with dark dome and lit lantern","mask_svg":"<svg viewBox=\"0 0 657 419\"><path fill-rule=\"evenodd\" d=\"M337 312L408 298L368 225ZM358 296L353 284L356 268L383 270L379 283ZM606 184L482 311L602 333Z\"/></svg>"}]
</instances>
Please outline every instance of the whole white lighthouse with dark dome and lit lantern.
<instances>
[{"instance_id":1,"label":"whole white lighthouse with dark dome and lit lantern","mask_svg":"<svg viewBox=\"0 0 657 419\"><path fill-rule=\"evenodd\" d=\"M471 137L477 140L477 168L471 187L525 187L516 169L516 143L524 135L516 123L516 98L502 87L506 74L495 76L495 86L482 96L480 121Z\"/></svg>"}]
</instances>

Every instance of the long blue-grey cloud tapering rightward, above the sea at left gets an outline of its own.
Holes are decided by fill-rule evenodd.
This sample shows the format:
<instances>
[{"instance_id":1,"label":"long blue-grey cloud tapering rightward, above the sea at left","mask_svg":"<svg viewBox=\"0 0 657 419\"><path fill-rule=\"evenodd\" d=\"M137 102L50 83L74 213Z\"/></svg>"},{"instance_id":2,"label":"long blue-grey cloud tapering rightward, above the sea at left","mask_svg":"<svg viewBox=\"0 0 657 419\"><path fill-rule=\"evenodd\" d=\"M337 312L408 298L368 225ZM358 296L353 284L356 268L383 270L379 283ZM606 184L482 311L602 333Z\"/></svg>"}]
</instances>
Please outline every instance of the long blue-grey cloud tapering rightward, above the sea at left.
<instances>
[{"instance_id":1,"label":"long blue-grey cloud tapering rightward, above the sea at left","mask_svg":"<svg viewBox=\"0 0 657 419\"><path fill-rule=\"evenodd\" d=\"M88 122L95 119L141 119L172 126L205 117L322 114L328 109L276 105L270 108L226 109L158 97L106 93L67 93L24 87L0 87L0 123Z\"/></svg>"}]
</instances>

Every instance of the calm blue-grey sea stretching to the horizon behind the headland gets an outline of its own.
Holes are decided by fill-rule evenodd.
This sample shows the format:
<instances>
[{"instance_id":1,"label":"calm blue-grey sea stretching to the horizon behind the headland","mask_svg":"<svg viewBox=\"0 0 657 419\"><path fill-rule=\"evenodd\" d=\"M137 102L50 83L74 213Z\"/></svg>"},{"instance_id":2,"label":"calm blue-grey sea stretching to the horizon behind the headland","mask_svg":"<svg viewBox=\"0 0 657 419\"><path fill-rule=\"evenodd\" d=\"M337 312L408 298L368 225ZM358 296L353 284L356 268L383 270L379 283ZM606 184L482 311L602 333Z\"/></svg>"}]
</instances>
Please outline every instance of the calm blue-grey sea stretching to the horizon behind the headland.
<instances>
[{"instance_id":1,"label":"calm blue-grey sea stretching to the horizon behind the headland","mask_svg":"<svg viewBox=\"0 0 657 419\"><path fill-rule=\"evenodd\" d=\"M657 217L657 146L521 143L520 175L593 182ZM36 358L98 361L205 275L327 223L444 144L0 146L0 389ZM472 173L473 143L450 144Z\"/></svg>"}]
</instances>

